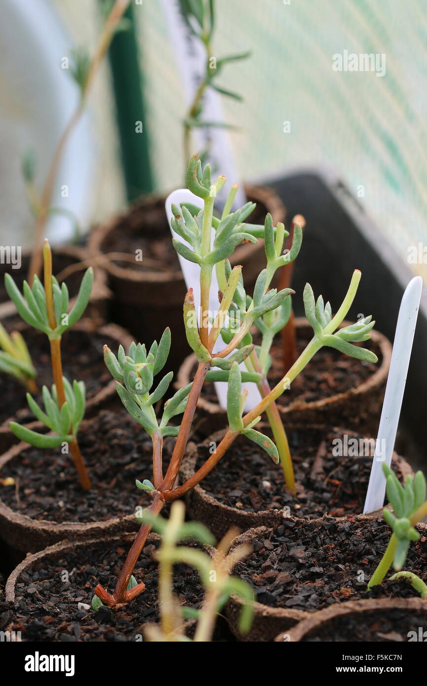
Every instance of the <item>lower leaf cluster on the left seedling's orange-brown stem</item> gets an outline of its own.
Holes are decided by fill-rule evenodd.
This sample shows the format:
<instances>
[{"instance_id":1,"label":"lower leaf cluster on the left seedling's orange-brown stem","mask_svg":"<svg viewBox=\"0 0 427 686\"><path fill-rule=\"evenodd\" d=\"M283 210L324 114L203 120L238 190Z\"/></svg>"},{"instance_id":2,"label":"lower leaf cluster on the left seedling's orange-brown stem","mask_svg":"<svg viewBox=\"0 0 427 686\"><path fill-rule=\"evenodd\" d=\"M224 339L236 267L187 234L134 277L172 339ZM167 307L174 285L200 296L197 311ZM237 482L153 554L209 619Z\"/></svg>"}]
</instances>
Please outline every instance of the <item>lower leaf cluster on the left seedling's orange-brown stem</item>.
<instances>
[{"instance_id":1,"label":"lower leaf cluster on the left seedling's orange-brown stem","mask_svg":"<svg viewBox=\"0 0 427 686\"><path fill-rule=\"evenodd\" d=\"M38 434L32 429L16 424L10 423L10 429L19 440L25 440L30 445L35 445L37 448L56 448L64 442L72 442L77 436L80 423L84 417L84 407L86 403L86 389L83 381L73 381L73 385L62 377L64 383L65 402L59 406L58 395L56 393L56 386L53 384L51 392L47 386L42 388L42 399L45 405L45 411L38 406L32 395L27 393L27 402L29 409L34 412L38 421L42 422L45 427L51 431L55 431L56 435L47 436L45 434Z\"/></svg>"}]
</instances>

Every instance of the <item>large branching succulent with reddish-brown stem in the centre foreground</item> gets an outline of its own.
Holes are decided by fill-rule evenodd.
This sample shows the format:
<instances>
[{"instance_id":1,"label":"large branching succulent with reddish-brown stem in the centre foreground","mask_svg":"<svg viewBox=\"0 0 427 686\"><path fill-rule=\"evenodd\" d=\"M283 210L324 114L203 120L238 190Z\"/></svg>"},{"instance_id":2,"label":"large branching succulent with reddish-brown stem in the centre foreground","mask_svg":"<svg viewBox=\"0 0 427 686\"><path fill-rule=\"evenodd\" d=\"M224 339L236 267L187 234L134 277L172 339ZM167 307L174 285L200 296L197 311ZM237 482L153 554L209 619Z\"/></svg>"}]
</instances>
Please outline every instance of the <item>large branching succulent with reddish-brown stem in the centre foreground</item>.
<instances>
[{"instance_id":1,"label":"large branching succulent with reddish-brown stem in the centre foreground","mask_svg":"<svg viewBox=\"0 0 427 686\"><path fill-rule=\"evenodd\" d=\"M138 480L137 486L150 493L152 502L147 510L147 519L141 525L136 535L123 568L119 574L113 593L108 593L101 584L95 589L95 595L108 606L123 606L143 590L143 584L127 591L136 560L143 549L149 531L151 519L162 509L164 503L174 501L188 493L208 474L237 436L243 435L256 442L274 460L278 458L285 464L286 483L295 490L293 480L293 467L286 434L284 432L280 416L274 401L289 387L289 383L302 372L310 359L322 346L332 346L346 355L357 359L376 361L374 353L361 348L354 343L360 343L369 338L369 332L374 326L371 318L365 318L357 324L352 324L345 329L339 329L343 319L347 315L356 295L361 272L356 270L352 276L350 287L345 295L337 314L332 316L329 303L324 305L323 298L319 296L315 301L313 291L309 285L304 289L304 307L306 316L313 327L313 338L310 340L295 364L286 372L286 375L270 390L265 379L268 367L269 346L271 344L271 331L275 331L278 325L286 320L288 307L286 298L293 293L291 289L276 291L270 288L276 270L284 264L284 261L295 259L300 249L302 231L295 227L293 246L289 253L282 255L282 245L286 232L283 224L274 227L271 217L267 215L264 226L252 225L246 222L250 211L250 204L246 204L240 210L231 212L230 197L225 204L228 213L220 219L213 215L214 202L217 191L225 183L225 178L219 176L215 182L210 178L210 167L202 165L197 155L193 156L186 171L187 187L195 196L202 198L204 206L202 210L185 206L173 207L172 226L178 237L186 241L182 243L178 238L173 240L175 250L182 257L197 263L200 266L200 318L197 319L195 312L193 291L190 289L184 301L184 324L188 344L193 349L198 366L193 381L175 393L164 404L164 410L160 421L154 411L154 401L158 402L164 395L171 381L171 375L162 378L156 389L152 392L154 372L160 371L164 366L165 355L169 352L170 336L165 331L160 344L153 344L149 353L143 346L134 344L130 354L125 356L123 349L119 351L117 358L106 350L106 362L110 372L117 380L117 391L121 401L127 410L134 416L136 421L145 427L153 442L153 481L150 479ZM233 191L231 191L233 192ZM214 240L212 241L212 229ZM265 239L267 256L267 268L260 272L252 298L247 296L241 274L241 267L233 269L228 262L234 248L242 242L254 242L258 238ZM212 279L212 270L217 269L221 293L219 294L219 306L215 313L209 312L209 292ZM222 279L222 281L220 281ZM230 320L235 322L230 327ZM258 359L252 343L250 329L256 324L266 337L261 344L259 353L263 365ZM222 333L225 340L225 348L213 352L215 342ZM161 350L161 354L159 351ZM230 356L230 357L229 357ZM247 371L241 371L239 364L244 362ZM261 389L262 400L256 407L244 414L243 406L245 396L241 390L241 382L245 375ZM207 458L206 462L197 469L196 473L186 482L177 486L175 484L178 470L188 438L199 394L206 380L228 381L228 430L225 431L215 451ZM276 409L276 414L275 414ZM261 434L254 427L266 412L273 429L274 442L265 434ZM173 416L182 414L179 426L171 427L169 420ZM164 436L175 436L175 445L166 473L162 469L162 446Z\"/></svg>"}]
</instances>

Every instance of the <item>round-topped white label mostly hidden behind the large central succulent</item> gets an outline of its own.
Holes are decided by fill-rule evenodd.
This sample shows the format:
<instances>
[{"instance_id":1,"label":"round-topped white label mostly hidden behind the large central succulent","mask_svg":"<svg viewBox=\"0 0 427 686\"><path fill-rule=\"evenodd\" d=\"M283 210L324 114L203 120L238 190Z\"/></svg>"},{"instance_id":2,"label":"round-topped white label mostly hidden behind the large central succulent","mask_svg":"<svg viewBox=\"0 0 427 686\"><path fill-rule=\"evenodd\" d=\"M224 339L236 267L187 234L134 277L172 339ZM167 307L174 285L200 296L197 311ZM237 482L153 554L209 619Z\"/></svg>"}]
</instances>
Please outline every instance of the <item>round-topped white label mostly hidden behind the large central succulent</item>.
<instances>
[{"instance_id":1,"label":"round-topped white label mostly hidden behind the large central succulent","mask_svg":"<svg viewBox=\"0 0 427 686\"><path fill-rule=\"evenodd\" d=\"M197 196L194 196L191 191L189 191L186 188L180 188L176 191L172 191L172 193L169 194L169 196L166 199L165 202L165 209L166 209L166 214L167 214L167 219L169 222L169 228L171 228L171 217L172 217L172 205L176 204L181 206L183 202L190 202L193 205L196 205L197 207L202 208L203 207L203 201L201 198L197 198ZM171 228L171 233L172 235L175 235ZM213 241L213 229L212 229L212 241ZM180 241L185 243L184 239L180 237ZM195 305L195 310L197 314L199 314L200 311L200 289L199 289L199 276L200 276L200 267L198 264L195 264L193 262L189 262L188 260L184 259L184 257L181 257L181 255L178 255L178 259L180 260L180 265L182 269L182 274L184 274L184 280L186 283L187 288L193 288L193 293L194 293L194 305ZM212 314L215 314L215 312L218 309L218 281L217 281L217 276L215 274L215 269L212 270L212 283L210 285L210 297L209 297L209 309ZM219 336L215 347L214 351L219 351L225 347L225 344ZM245 363L242 362L241 364L241 370L246 371ZM249 412L249 410L252 410L252 407L255 407L261 399L260 397L260 392L258 391L258 388L256 388L255 383L242 383L242 387L247 389L247 398L246 398L246 403L245 403L245 410L246 412ZM215 382L215 391L217 392L217 397L219 404L223 409L227 407L227 383L225 381L216 381Z\"/></svg>"}]
</instances>

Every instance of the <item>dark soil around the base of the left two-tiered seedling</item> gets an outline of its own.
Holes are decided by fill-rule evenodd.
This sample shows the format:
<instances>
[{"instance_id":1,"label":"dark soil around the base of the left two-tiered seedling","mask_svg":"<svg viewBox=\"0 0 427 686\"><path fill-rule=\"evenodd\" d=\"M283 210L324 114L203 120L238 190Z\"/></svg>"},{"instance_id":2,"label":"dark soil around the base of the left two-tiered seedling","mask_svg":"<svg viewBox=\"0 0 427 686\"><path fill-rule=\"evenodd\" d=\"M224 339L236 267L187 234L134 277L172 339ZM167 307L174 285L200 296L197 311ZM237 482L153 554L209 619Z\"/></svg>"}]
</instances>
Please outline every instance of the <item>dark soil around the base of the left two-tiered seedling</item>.
<instances>
[{"instance_id":1,"label":"dark soil around the base of the left two-tiered seedling","mask_svg":"<svg viewBox=\"0 0 427 686\"><path fill-rule=\"evenodd\" d=\"M123 407L103 410L82 425L79 445L93 488L83 490L69 455L60 449L29 447L0 472L14 485L1 486L0 497L12 510L48 521L105 521L132 514L151 497L135 479L153 480L151 439ZM163 464L169 463L173 439L164 441ZM1 484L1 482L0 482Z\"/></svg>"}]
</instances>

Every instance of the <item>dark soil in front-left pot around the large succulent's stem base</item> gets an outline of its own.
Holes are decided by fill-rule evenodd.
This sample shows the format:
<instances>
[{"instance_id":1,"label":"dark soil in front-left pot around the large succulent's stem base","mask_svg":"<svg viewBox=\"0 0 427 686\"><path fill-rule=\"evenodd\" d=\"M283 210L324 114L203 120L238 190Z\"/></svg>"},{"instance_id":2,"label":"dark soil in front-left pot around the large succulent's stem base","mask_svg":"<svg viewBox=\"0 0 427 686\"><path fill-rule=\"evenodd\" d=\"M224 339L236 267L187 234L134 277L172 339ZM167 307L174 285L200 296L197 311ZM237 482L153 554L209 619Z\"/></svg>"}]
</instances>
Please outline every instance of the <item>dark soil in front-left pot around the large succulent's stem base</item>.
<instances>
[{"instance_id":1,"label":"dark soil in front-left pot around the large succulent's stem base","mask_svg":"<svg viewBox=\"0 0 427 686\"><path fill-rule=\"evenodd\" d=\"M145 590L135 600L119 610L78 608L80 602L90 606L98 583L112 591L130 545L76 545L60 557L38 560L16 584L12 630L20 630L23 641L141 641L142 625L159 621L158 541L149 541L136 563L134 576ZM197 571L175 565L173 591L182 605L198 608L203 589Z\"/></svg>"}]
</instances>

